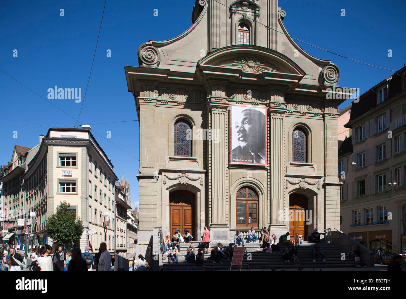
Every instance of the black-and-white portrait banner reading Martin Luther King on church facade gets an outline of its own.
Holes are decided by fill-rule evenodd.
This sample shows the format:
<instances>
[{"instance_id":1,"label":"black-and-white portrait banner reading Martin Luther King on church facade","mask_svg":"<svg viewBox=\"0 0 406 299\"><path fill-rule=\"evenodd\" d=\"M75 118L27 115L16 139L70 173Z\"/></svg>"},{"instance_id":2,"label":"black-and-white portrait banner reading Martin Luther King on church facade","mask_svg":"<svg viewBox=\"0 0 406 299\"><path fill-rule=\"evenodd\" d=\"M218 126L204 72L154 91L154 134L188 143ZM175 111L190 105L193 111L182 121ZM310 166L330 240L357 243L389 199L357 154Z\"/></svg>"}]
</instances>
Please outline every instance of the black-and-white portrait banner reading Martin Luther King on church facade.
<instances>
[{"instance_id":1,"label":"black-and-white portrait banner reading Martin Luther King on church facade","mask_svg":"<svg viewBox=\"0 0 406 299\"><path fill-rule=\"evenodd\" d=\"M231 105L231 163L266 165L266 107Z\"/></svg>"}]
</instances>

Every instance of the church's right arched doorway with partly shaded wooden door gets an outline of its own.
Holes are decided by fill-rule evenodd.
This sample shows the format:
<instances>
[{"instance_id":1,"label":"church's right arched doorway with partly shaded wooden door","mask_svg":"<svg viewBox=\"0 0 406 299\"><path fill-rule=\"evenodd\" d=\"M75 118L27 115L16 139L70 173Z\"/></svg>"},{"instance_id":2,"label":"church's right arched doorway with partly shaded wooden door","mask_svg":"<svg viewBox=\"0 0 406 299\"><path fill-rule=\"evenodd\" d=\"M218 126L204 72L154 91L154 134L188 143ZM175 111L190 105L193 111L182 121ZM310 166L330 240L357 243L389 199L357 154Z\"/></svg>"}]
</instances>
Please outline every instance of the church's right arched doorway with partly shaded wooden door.
<instances>
[{"instance_id":1,"label":"church's right arched doorway with partly shaded wooden door","mask_svg":"<svg viewBox=\"0 0 406 299\"><path fill-rule=\"evenodd\" d=\"M296 233L307 240L306 212L307 197L302 194L291 194L289 196L289 233L294 239Z\"/></svg>"}]
</instances>

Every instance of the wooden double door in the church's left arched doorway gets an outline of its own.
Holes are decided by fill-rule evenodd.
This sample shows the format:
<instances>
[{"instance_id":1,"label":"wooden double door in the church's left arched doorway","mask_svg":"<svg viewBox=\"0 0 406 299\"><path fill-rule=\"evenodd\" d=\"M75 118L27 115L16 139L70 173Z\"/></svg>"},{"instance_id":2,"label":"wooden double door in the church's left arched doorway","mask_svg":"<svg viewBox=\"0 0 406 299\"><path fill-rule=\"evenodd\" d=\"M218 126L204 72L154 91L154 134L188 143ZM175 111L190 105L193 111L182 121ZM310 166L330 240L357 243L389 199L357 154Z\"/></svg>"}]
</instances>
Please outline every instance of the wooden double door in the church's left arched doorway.
<instances>
[{"instance_id":1,"label":"wooden double door in the church's left arched doorway","mask_svg":"<svg viewBox=\"0 0 406 299\"><path fill-rule=\"evenodd\" d=\"M171 228L171 237L176 229L180 229L183 234L184 229L187 229L194 236L195 221L195 195L186 190L172 192L169 196L169 223ZM199 240L197 238L196 240Z\"/></svg>"}]
</instances>

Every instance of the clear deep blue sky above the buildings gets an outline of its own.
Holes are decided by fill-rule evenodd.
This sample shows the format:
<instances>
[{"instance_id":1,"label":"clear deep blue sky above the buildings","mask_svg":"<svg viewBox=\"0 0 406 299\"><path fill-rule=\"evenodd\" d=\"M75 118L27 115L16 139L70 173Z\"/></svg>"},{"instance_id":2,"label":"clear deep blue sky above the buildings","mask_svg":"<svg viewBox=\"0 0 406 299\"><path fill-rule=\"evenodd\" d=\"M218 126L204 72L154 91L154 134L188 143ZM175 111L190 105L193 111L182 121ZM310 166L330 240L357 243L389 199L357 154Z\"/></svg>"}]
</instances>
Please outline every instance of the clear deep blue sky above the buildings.
<instances>
[{"instance_id":1,"label":"clear deep blue sky above the buildings","mask_svg":"<svg viewBox=\"0 0 406 299\"><path fill-rule=\"evenodd\" d=\"M4 1L0 11L0 69L44 98L48 88L81 88L89 77L104 1ZM91 124L93 135L110 157L116 175L131 184L133 207L138 205L139 126L134 98L127 91L124 65L138 65L137 50L145 41L166 40L191 25L194 0L107 0L99 43L79 121ZM404 16L406 2L287 1L284 24L289 33L310 44L352 59L398 70L406 63ZM60 16L60 9L65 16ZM158 9L158 17L153 10ZM346 16L341 17L341 9ZM176 16L176 18L174 17ZM393 72L362 65L298 42L311 55L328 59L341 70L340 86L360 88L361 94ZM13 50L17 57L13 57ZM111 50L111 57L106 51ZM388 57L391 49L393 57ZM82 103L50 100L78 118ZM348 105L343 103L340 108ZM14 144L33 147L46 126L73 120L45 100L0 72L0 163L10 159ZM5 126L4 124L13 124ZM13 138L17 131L17 139ZM103 139L97 134L111 139ZM120 149L121 148L121 149ZM124 151L128 152L125 153Z\"/></svg>"}]
</instances>

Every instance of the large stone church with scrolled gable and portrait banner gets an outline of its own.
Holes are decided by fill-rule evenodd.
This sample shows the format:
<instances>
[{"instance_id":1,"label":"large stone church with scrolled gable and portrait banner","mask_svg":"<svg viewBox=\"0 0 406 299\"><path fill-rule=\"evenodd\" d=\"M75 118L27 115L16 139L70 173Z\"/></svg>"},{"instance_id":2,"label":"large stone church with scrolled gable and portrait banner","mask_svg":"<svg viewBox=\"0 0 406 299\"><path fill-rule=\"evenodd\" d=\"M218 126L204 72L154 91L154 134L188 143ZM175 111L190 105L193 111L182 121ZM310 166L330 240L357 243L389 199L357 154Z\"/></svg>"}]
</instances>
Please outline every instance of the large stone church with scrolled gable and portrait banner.
<instances>
[{"instance_id":1,"label":"large stone church with scrolled gable and portrait banner","mask_svg":"<svg viewBox=\"0 0 406 299\"><path fill-rule=\"evenodd\" d=\"M205 226L219 242L251 226L339 229L348 94L328 94L339 68L304 52L285 16L277 0L197 0L188 30L125 66L140 124L138 244L157 227L195 242Z\"/></svg>"}]
</instances>

